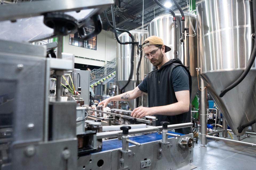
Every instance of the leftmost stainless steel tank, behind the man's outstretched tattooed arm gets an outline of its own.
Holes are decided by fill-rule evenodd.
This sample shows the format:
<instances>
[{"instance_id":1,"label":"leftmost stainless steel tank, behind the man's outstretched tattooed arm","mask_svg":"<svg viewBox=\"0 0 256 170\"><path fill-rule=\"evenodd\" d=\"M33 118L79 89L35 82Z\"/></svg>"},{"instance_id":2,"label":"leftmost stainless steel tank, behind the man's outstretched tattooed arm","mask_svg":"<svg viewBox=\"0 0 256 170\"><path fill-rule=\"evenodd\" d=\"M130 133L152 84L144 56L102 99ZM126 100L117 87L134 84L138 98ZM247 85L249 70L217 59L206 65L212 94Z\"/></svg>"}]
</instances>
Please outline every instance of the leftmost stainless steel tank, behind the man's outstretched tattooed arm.
<instances>
[{"instance_id":1,"label":"leftmost stainless steel tank, behind the man's outstretched tattooed arm","mask_svg":"<svg viewBox=\"0 0 256 170\"><path fill-rule=\"evenodd\" d=\"M147 38L147 31L143 30L131 30L130 33L134 36L134 41L139 42L139 44L142 44L143 41ZM121 42L129 42L131 41L130 36L128 33L124 32L121 33L118 36L119 40ZM122 88L126 82L128 81L129 75L130 75L130 69L131 69L131 44L127 45L121 45L117 43L117 56L116 56L116 83L120 88ZM144 58L143 56L144 51L141 51L142 53L142 60L141 65L139 68L139 83L144 79L144 77L152 71L152 64L149 60ZM130 80L130 83L128 86L124 89L124 91L130 91L133 90L136 86L136 73L137 73L137 66L139 62L140 54L137 54L137 46L135 45L134 49L134 68L133 68L133 76ZM142 97L139 97L139 106L142 105ZM134 100L129 100L128 104L130 108L134 109L136 106L134 106ZM147 106L147 95L143 95L143 106Z\"/></svg>"}]
</instances>

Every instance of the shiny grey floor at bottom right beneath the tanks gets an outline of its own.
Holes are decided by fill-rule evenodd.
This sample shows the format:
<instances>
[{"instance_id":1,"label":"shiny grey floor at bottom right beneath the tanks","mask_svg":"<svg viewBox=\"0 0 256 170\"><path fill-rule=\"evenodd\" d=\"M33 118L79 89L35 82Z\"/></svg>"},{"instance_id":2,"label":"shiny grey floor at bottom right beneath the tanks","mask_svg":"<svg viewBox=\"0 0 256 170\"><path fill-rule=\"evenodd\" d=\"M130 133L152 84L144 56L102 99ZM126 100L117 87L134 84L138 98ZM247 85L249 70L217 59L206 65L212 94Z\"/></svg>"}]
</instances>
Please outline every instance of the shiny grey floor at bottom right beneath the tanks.
<instances>
[{"instance_id":1,"label":"shiny grey floor at bottom right beneath the tanks","mask_svg":"<svg viewBox=\"0 0 256 170\"><path fill-rule=\"evenodd\" d=\"M234 134L232 135L234 137ZM256 138L251 135L243 141L256 143ZM198 143L195 143L193 162L197 166L195 170L256 169L256 147L213 139L207 139L206 146L201 147L200 138Z\"/></svg>"}]
</instances>

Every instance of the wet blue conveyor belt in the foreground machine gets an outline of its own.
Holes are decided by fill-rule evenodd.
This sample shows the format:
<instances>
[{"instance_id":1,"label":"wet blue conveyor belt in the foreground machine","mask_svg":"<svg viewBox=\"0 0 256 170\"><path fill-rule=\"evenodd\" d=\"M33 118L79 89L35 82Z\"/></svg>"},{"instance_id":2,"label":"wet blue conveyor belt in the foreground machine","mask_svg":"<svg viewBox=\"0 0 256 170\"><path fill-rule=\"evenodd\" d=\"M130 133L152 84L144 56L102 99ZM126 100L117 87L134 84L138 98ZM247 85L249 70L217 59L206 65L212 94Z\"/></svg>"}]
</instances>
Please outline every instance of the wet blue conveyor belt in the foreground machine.
<instances>
[{"instance_id":1,"label":"wet blue conveyor belt in the foreground machine","mask_svg":"<svg viewBox=\"0 0 256 170\"><path fill-rule=\"evenodd\" d=\"M168 133L173 133L173 134L178 134L183 136L184 134L181 133L175 133L168 131ZM174 138L171 136L168 136L168 138ZM147 143L147 142L154 142L162 139L162 134L156 133L151 133L151 134L146 134L146 135L139 135L139 136L134 136L134 137L129 137L130 140L138 143ZM129 146L132 146L133 144L129 143ZM107 140L102 142L102 150L101 151L107 151L107 150L112 150L112 149L117 149L122 147L122 141L118 139L113 139L113 140Z\"/></svg>"}]
</instances>

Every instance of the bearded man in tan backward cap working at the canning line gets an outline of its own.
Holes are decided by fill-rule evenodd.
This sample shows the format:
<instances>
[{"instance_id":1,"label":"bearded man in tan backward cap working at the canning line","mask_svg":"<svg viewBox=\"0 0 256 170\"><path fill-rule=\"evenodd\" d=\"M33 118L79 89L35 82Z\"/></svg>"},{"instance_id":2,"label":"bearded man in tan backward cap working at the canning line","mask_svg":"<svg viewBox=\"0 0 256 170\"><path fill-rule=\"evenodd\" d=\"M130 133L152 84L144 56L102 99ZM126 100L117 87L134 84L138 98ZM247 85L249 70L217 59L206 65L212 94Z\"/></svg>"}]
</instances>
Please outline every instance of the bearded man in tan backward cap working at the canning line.
<instances>
[{"instance_id":1,"label":"bearded man in tan backward cap working at the canning line","mask_svg":"<svg viewBox=\"0 0 256 170\"><path fill-rule=\"evenodd\" d=\"M182 62L175 58L168 60L165 53L171 48L163 44L157 36L148 37L142 44L145 58L154 65L153 71L134 89L123 94L110 97L99 104L103 107L110 101L132 100L144 93L148 94L149 107L138 107L131 115L136 118L156 116L157 126L160 122L170 124L191 122L190 97L191 75ZM192 133L191 128L175 130L178 133Z\"/></svg>"}]
</instances>

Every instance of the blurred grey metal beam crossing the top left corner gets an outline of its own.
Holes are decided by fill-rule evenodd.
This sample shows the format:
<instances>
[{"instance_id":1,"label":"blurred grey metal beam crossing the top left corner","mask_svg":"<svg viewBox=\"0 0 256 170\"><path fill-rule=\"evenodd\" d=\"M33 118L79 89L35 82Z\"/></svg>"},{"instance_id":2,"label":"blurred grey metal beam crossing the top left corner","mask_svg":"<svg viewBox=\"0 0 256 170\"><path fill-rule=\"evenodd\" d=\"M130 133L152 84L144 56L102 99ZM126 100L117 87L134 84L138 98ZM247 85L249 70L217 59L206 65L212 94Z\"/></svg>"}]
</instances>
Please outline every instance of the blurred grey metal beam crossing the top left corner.
<instances>
[{"instance_id":1,"label":"blurred grey metal beam crossing the top left corner","mask_svg":"<svg viewBox=\"0 0 256 170\"><path fill-rule=\"evenodd\" d=\"M72 2L70 2L70 0L51 0L1 5L0 21L39 16L45 14L46 12L80 11L91 8L98 8L100 13L102 12L101 8L105 9L113 3L113 0L99 2L95 2L95 0L73 0Z\"/></svg>"}]
</instances>

